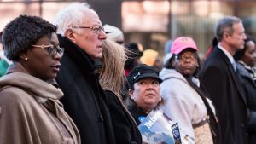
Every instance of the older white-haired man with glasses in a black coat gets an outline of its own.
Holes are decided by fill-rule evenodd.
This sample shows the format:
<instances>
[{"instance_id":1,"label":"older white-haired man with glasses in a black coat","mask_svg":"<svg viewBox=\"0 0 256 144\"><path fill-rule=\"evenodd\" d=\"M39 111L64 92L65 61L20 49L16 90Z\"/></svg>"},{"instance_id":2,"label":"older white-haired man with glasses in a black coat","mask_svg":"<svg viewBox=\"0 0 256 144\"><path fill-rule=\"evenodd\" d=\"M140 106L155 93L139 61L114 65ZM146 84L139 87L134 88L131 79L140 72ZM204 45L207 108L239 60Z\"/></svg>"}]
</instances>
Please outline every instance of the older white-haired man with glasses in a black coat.
<instances>
[{"instance_id":1,"label":"older white-haired man with glasses in a black coat","mask_svg":"<svg viewBox=\"0 0 256 144\"><path fill-rule=\"evenodd\" d=\"M64 92L64 108L79 129L83 144L115 144L106 96L95 70L102 67L106 39L98 14L88 3L73 3L55 16L65 53L56 78ZM68 134L67 134L68 135Z\"/></svg>"}]
</instances>

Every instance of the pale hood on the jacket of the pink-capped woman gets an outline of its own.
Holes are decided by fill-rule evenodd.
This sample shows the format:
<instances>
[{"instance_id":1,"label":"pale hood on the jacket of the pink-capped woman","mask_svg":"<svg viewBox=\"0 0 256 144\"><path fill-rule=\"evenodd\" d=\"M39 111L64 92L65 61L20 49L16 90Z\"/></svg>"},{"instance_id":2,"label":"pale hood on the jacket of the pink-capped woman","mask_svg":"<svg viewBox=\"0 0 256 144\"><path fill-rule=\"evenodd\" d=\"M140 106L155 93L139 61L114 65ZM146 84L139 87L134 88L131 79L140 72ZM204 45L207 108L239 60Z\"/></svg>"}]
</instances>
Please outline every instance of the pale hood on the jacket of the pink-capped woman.
<instances>
[{"instance_id":1,"label":"pale hood on the jacket of the pink-capped woman","mask_svg":"<svg viewBox=\"0 0 256 144\"><path fill-rule=\"evenodd\" d=\"M163 68L159 76L161 79L163 79L163 81L170 78L177 78L179 80L182 80L184 83L189 84L187 79L184 78L183 75L180 72L177 72L177 70L175 69ZM198 87L200 86L200 81L198 78L192 77L192 82L196 84Z\"/></svg>"}]
</instances>

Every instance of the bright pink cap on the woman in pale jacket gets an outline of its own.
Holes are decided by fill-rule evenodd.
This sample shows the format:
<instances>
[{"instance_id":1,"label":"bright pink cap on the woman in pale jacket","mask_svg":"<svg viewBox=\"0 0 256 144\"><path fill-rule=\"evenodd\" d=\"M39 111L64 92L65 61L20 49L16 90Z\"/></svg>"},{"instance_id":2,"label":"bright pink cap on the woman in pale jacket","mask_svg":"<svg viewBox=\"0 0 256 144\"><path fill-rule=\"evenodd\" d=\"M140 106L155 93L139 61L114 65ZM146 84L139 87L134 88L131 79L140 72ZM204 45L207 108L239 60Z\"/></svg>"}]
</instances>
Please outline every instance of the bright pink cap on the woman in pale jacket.
<instances>
[{"instance_id":1,"label":"bright pink cap on the woman in pale jacket","mask_svg":"<svg viewBox=\"0 0 256 144\"><path fill-rule=\"evenodd\" d=\"M198 51L197 46L195 45L195 41L190 37L177 37L172 43L171 53L179 54L184 49L195 49Z\"/></svg>"}]
</instances>

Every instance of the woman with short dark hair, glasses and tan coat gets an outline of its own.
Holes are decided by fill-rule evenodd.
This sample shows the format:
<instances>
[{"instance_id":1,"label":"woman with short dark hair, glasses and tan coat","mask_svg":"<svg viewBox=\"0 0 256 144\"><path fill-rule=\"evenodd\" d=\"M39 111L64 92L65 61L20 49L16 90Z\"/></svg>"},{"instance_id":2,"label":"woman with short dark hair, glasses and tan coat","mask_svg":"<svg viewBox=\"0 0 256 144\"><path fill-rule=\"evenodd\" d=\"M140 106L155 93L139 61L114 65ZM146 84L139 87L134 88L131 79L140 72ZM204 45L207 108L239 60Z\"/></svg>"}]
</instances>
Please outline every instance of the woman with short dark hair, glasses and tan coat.
<instances>
[{"instance_id":1,"label":"woman with short dark hair, glasses and tan coat","mask_svg":"<svg viewBox=\"0 0 256 144\"><path fill-rule=\"evenodd\" d=\"M14 64L0 78L1 144L80 143L54 80L64 52L55 31L49 22L27 15L3 30L4 52Z\"/></svg>"}]
</instances>

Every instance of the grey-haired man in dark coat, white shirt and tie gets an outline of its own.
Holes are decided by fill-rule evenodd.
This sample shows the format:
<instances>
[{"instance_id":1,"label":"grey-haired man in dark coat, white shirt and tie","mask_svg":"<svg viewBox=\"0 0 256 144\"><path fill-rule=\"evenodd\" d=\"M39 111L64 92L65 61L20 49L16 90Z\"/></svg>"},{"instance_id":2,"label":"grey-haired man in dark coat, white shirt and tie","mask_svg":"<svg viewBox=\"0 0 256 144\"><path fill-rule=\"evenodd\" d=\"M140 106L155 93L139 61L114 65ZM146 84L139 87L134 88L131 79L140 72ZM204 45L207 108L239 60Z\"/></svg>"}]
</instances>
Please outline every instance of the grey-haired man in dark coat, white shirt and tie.
<instances>
[{"instance_id":1,"label":"grey-haired man in dark coat, white shirt and tie","mask_svg":"<svg viewBox=\"0 0 256 144\"><path fill-rule=\"evenodd\" d=\"M222 143L246 144L247 101L236 74L233 55L243 49L247 37L241 20L235 16L219 20L215 35L218 46L202 68L201 82L215 104Z\"/></svg>"}]
</instances>

